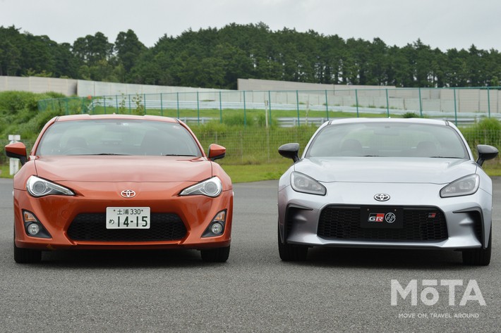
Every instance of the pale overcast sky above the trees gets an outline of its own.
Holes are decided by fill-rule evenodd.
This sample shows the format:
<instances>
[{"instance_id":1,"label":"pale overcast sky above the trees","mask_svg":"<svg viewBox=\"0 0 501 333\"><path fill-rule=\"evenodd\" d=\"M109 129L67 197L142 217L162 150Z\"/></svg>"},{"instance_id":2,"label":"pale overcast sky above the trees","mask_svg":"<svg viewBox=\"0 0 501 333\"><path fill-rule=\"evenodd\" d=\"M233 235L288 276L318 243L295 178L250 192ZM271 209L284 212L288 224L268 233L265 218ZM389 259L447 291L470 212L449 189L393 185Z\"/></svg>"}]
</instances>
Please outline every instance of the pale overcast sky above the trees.
<instances>
[{"instance_id":1,"label":"pale overcast sky above the trees","mask_svg":"<svg viewBox=\"0 0 501 333\"><path fill-rule=\"evenodd\" d=\"M131 29L145 46L164 34L265 23L270 30L314 30L343 39L418 39L432 49L501 50L500 0L0 0L0 26L58 43L102 32L115 42Z\"/></svg>"}]
</instances>

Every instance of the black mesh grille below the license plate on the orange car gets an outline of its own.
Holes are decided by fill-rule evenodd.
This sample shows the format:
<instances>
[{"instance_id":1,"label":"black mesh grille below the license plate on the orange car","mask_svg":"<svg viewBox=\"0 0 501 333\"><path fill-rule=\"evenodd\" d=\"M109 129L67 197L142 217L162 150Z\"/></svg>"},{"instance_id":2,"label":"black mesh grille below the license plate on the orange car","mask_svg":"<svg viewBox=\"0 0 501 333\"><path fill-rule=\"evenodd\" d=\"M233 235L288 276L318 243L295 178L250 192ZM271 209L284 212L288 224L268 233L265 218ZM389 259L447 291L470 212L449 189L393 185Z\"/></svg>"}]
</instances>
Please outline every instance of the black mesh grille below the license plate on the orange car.
<instances>
[{"instance_id":1,"label":"black mesh grille below the license plate on the orange car","mask_svg":"<svg viewBox=\"0 0 501 333\"><path fill-rule=\"evenodd\" d=\"M150 229L106 229L106 214L79 214L68 228L68 236L79 241L172 241L182 239L186 227L176 214L151 213Z\"/></svg>"}]
</instances>

